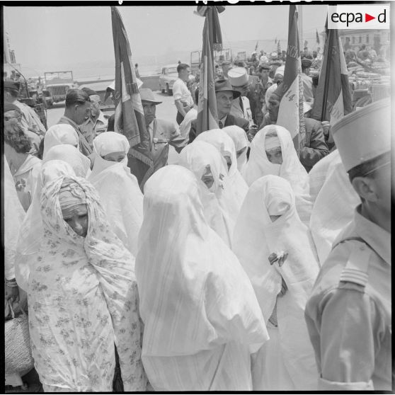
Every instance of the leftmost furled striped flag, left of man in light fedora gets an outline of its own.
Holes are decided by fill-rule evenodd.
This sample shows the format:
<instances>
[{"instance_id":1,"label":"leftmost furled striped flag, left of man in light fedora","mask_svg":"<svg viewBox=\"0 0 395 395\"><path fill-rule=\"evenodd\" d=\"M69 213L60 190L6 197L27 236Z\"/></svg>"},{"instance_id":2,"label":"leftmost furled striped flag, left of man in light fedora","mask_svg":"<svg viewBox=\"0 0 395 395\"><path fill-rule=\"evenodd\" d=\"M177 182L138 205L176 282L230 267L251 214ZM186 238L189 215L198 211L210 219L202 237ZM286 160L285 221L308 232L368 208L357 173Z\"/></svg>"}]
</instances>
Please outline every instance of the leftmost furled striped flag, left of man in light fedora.
<instances>
[{"instance_id":1,"label":"leftmost furled striped flag, left of man in light fedora","mask_svg":"<svg viewBox=\"0 0 395 395\"><path fill-rule=\"evenodd\" d=\"M129 40L117 8L111 7L115 50L115 132L124 134L129 143L127 166L137 177L142 189L154 172L149 150L149 132L145 125L142 101L132 62Z\"/></svg>"}]
</instances>

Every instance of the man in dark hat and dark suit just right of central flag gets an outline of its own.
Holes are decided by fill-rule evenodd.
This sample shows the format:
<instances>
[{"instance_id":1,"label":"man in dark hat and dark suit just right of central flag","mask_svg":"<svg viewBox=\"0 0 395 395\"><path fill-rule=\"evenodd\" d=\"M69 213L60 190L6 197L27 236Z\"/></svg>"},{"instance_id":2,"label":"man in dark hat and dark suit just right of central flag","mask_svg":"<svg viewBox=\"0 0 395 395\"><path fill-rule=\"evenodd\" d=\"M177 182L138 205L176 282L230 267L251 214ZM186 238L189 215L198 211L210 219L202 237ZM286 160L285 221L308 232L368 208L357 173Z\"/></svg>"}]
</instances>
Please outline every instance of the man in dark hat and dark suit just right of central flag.
<instances>
[{"instance_id":1,"label":"man in dark hat and dark suit just right of central flag","mask_svg":"<svg viewBox=\"0 0 395 395\"><path fill-rule=\"evenodd\" d=\"M248 120L231 115L231 104L235 98L240 96L240 92L235 91L229 80L219 79L214 82L215 97L217 98L217 113L219 129L225 126L237 125L245 130L247 136L255 134L256 130L251 130ZM196 137L196 122L193 120L190 125L189 142L193 142Z\"/></svg>"}]
</instances>

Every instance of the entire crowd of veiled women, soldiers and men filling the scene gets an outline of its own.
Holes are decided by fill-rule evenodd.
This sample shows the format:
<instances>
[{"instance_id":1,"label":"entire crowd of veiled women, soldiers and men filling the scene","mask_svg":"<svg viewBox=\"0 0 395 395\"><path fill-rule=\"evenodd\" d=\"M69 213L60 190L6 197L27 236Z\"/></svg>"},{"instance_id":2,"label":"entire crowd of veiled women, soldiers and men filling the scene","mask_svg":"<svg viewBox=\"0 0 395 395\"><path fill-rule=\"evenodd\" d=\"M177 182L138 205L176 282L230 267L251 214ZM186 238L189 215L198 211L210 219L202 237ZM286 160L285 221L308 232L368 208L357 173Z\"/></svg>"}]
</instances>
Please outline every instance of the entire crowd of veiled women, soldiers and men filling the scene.
<instances>
[{"instance_id":1,"label":"entire crowd of veiled women, soldiers and men filling the scene","mask_svg":"<svg viewBox=\"0 0 395 395\"><path fill-rule=\"evenodd\" d=\"M254 54L254 83L222 62L201 133L188 64L175 122L139 86L143 188L95 91L45 130L4 83L5 315L28 312L44 391L391 391L390 103L309 118L314 55L299 152L277 125L285 59Z\"/></svg>"}]
</instances>

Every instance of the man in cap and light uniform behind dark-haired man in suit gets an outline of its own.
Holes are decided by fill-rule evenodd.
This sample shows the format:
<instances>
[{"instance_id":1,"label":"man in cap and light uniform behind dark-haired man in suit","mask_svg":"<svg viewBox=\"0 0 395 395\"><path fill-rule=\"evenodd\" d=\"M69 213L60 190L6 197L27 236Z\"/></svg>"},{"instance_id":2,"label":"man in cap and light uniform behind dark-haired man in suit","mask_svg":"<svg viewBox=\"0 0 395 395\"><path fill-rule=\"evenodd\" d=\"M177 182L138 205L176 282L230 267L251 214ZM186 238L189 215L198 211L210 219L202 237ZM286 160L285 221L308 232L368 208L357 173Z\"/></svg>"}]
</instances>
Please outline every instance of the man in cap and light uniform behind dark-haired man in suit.
<instances>
[{"instance_id":1,"label":"man in cap and light uniform behind dark-haired man in suit","mask_svg":"<svg viewBox=\"0 0 395 395\"><path fill-rule=\"evenodd\" d=\"M91 101L91 112L86 121L81 125L81 133L84 134L86 141L93 149L93 139L103 132L107 132L108 116L106 117L100 109L101 98L93 89L84 87L82 91L86 92Z\"/></svg>"}]
</instances>

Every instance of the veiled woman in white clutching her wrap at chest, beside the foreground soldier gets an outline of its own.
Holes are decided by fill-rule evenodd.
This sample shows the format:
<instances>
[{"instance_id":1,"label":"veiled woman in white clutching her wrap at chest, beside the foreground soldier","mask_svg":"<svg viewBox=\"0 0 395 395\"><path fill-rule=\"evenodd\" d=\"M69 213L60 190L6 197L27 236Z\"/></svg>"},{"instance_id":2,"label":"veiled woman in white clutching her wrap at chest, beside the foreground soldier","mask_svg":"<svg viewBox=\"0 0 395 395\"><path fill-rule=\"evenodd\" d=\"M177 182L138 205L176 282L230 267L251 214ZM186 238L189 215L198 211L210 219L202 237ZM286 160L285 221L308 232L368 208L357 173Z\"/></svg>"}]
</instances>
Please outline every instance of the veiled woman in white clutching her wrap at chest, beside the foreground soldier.
<instances>
[{"instance_id":1,"label":"veiled woman in white clutching her wrap at chest, beside the foreground soldier","mask_svg":"<svg viewBox=\"0 0 395 395\"><path fill-rule=\"evenodd\" d=\"M316 362L304 308L319 265L288 181L264 176L251 185L233 246L252 282L270 336L252 358L253 389L315 389Z\"/></svg>"}]
</instances>

